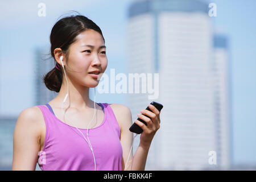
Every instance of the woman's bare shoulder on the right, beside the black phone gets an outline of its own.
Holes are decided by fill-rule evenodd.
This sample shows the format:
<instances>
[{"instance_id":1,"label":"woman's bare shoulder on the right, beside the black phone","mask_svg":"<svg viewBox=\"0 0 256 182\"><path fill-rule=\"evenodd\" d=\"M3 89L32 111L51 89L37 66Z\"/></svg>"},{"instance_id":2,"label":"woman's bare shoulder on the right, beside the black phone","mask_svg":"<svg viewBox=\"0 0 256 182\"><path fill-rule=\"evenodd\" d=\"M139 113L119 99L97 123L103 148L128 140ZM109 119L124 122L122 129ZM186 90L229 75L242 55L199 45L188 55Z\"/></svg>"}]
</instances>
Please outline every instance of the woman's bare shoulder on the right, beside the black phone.
<instances>
[{"instance_id":1,"label":"woman's bare shoulder on the right, beside the black phone","mask_svg":"<svg viewBox=\"0 0 256 182\"><path fill-rule=\"evenodd\" d=\"M123 128L126 128L127 126L132 124L131 110L129 107L122 104L109 105L115 114L115 118L117 118L117 122L119 124L121 131Z\"/></svg>"}]
</instances>

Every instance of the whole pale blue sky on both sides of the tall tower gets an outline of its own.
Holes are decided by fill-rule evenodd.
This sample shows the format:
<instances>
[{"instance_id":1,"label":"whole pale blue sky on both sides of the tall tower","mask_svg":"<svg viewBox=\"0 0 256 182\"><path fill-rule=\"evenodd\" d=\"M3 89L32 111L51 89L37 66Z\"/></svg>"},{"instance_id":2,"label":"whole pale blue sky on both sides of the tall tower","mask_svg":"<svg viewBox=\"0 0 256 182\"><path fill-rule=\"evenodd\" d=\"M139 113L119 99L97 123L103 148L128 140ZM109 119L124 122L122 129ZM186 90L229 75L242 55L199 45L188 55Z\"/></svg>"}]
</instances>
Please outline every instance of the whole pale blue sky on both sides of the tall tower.
<instances>
[{"instance_id":1,"label":"whole pale blue sky on both sides of the tall tower","mask_svg":"<svg viewBox=\"0 0 256 182\"><path fill-rule=\"evenodd\" d=\"M46 4L46 17L38 4ZM106 40L108 68L126 72L127 5L132 1L1 1L0 2L0 114L18 115L34 106L34 51L49 44L60 15L69 10L92 19ZM256 1L212 0L217 17L214 31L229 38L232 61L232 117L234 163L256 163ZM12 7L11 9L9 7ZM125 97L97 94L97 102L126 104Z\"/></svg>"}]
</instances>

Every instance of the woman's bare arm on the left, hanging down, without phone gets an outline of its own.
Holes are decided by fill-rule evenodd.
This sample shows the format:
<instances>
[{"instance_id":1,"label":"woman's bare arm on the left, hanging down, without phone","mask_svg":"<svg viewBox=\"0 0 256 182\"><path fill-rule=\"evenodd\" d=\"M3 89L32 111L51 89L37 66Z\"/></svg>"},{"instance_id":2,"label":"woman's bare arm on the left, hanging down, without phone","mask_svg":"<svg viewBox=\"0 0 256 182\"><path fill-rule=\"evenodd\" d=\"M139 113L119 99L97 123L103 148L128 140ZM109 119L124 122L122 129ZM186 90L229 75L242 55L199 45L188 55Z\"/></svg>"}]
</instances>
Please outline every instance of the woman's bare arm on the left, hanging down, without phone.
<instances>
[{"instance_id":1,"label":"woman's bare arm on the left, hanging down, without phone","mask_svg":"<svg viewBox=\"0 0 256 182\"><path fill-rule=\"evenodd\" d=\"M35 107L24 109L18 117L13 137L12 170L35 170L40 151L40 124Z\"/></svg>"}]
</instances>

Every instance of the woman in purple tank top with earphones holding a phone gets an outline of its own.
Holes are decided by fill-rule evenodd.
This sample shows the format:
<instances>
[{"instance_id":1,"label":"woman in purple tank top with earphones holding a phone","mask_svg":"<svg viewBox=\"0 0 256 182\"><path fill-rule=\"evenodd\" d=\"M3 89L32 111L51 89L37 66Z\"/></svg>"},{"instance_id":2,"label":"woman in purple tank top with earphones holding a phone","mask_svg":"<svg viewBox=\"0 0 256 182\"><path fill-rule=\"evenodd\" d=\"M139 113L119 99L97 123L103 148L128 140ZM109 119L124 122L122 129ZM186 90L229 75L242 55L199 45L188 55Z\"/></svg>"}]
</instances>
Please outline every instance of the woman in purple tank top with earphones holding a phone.
<instances>
[{"instance_id":1,"label":"woman in purple tank top with earphones holding a phone","mask_svg":"<svg viewBox=\"0 0 256 182\"><path fill-rule=\"evenodd\" d=\"M152 138L160 127L159 111L149 105L152 112L138 114L147 126L135 120L143 133L135 155L129 156L133 143L129 107L95 105L89 99L89 88L94 88L95 99L97 74L104 73L108 65L100 28L85 16L71 15L53 26L50 40L56 67L44 76L44 83L59 94L47 105L19 114L12 169L35 170L38 162L42 170L144 170Z\"/></svg>"}]
</instances>

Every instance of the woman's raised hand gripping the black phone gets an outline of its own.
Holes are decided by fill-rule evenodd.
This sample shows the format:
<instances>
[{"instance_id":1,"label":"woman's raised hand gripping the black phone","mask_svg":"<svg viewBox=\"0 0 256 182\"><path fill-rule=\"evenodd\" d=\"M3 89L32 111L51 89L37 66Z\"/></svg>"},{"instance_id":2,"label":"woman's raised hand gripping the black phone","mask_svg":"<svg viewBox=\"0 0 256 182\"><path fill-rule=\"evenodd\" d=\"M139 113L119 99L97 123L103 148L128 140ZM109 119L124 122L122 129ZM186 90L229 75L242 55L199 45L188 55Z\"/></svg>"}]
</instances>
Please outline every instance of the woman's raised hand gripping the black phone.
<instances>
[{"instance_id":1,"label":"woman's raised hand gripping the black phone","mask_svg":"<svg viewBox=\"0 0 256 182\"><path fill-rule=\"evenodd\" d=\"M160 112L158 111L158 109L156 109L155 106L151 104L148 105L148 107L150 110L152 110L152 112L143 109L141 110L141 113L144 115L138 114L138 117L141 118L144 122L146 122L147 126L144 125L144 123L142 123L141 121L138 121L137 119L135 119L134 121L143 130L141 134L141 143L144 146L150 146L156 131L160 128ZM146 117L145 115L147 115L150 118Z\"/></svg>"}]
</instances>

